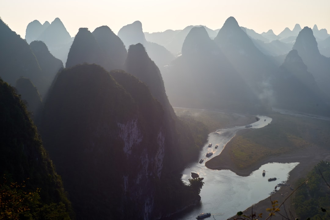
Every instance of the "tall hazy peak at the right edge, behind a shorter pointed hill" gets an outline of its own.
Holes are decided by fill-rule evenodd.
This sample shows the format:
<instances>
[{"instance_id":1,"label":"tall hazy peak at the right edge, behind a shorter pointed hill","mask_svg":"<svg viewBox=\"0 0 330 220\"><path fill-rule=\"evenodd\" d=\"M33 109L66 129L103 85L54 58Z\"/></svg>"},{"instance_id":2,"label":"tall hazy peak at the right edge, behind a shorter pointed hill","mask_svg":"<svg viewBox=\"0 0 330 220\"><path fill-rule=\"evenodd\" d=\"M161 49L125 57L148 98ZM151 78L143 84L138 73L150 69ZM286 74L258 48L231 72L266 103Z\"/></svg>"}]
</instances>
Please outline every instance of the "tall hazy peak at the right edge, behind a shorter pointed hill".
<instances>
[{"instance_id":1,"label":"tall hazy peak at the right edge, behind a shorter pointed hill","mask_svg":"<svg viewBox=\"0 0 330 220\"><path fill-rule=\"evenodd\" d=\"M304 27L299 32L293 49L298 51L319 88L330 97L330 58L320 54L311 28Z\"/></svg>"}]
</instances>

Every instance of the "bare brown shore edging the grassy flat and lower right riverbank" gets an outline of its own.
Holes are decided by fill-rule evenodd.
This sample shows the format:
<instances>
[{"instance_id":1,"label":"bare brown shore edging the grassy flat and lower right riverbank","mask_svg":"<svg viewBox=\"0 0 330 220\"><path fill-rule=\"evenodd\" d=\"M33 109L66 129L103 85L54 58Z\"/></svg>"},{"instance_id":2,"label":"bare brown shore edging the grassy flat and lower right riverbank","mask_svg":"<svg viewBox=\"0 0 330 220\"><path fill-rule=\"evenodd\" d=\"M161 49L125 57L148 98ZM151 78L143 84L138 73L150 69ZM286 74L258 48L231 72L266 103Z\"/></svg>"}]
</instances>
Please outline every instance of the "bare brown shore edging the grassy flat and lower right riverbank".
<instances>
[{"instance_id":1,"label":"bare brown shore edging the grassy flat and lower right riverbank","mask_svg":"<svg viewBox=\"0 0 330 220\"><path fill-rule=\"evenodd\" d=\"M239 132L243 133L247 131L248 129L241 130ZM237 133L237 134L241 134L241 133ZM262 165L267 163L299 162L299 164L289 173L289 177L286 183L290 184L290 186L282 186L277 193L273 195L269 195L269 197L267 197L266 199L259 201L256 204L253 204L252 207L249 207L246 210L244 210L244 213L246 215L251 214L253 209L253 213L256 213L257 215L259 213L263 213L263 217L268 216L268 212L266 211L266 209L272 207L271 201L277 200L278 204L281 204L287 198L287 196L289 196L292 193L290 187L293 187L293 189L298 187L295 184L300 178L304 178L304 176L306 176L306 174L310 172L314 168L314 166L317 165L321 160L330 161L329 150L321 146L314 146L314 147L307 147L300 151L285 155L270 156L265 158L264 160L258 161L255 165L251 167L239 169L235 167L232 158L229 157L229 153L228 153L229 148L230 148L230 141L223 148L220 155L217 156L219 157L218 165L207 166L207 168L212 170L230 170L239 176L249 176L253 171L258 170ZM285 201L284 206L282 206L280 210L281 210L280 213L284 216L288 215L290 217L290 215L293 215L294 218L296 217L290 198ZM279 219L282 219L282 216L280 214L273 216L272 219L278 219L277 217L279 217Z\"/></svg>"}]
</instances>

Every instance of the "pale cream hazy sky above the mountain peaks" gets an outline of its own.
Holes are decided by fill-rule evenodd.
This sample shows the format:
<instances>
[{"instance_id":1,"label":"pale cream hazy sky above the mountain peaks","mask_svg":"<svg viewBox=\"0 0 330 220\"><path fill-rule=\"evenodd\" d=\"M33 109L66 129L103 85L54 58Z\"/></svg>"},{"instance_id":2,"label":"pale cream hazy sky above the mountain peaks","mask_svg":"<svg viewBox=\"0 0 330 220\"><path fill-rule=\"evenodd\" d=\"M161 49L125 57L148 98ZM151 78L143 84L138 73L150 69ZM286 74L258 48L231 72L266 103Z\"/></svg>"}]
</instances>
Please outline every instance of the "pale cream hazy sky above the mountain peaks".
<instances>
[{"instance_id":1,"label":"pale cream hazy sky above the mountain peaks","mask_svg":"<svg viewBox=\"0 0 330 220\"><path fill-rule=\"evenodd\" d=\"M330 32L330 0L0 0L0 16L8 26L25 37L29 22L51 22L59 17L71 36L80 27L93 31L108 25L116 34L119 29L142 22L144 32L183 29L188 25L221 28L229 16L240 26L258 33L273 29L279 34L314 24Z\"/></svg>"}]
</instances>

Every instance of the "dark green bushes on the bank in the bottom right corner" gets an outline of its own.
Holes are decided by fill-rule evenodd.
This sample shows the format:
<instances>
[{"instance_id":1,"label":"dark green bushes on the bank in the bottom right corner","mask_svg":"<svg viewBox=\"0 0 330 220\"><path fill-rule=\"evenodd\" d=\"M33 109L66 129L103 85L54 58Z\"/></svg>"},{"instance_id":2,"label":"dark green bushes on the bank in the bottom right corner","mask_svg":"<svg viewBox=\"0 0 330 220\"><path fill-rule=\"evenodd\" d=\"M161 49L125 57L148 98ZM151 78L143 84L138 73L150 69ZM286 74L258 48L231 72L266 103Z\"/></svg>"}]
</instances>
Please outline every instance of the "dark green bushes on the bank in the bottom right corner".
<instances>
[{"instance_id":1,"label":"dark green bushes on the bank in the bottom right corner","mask_svg":"<svg viewBox=\"0 0 330 220\"><path fill-rule=\"evenodd\" d=\"M307 180L307 181L306 181ZM305 182L306 181L306 182ZM330 218L330 162L321 161L295 193L293 203L299 219L326 220ZM325 210L326 211L325 211Z\"/></svg>"}]
</instances>

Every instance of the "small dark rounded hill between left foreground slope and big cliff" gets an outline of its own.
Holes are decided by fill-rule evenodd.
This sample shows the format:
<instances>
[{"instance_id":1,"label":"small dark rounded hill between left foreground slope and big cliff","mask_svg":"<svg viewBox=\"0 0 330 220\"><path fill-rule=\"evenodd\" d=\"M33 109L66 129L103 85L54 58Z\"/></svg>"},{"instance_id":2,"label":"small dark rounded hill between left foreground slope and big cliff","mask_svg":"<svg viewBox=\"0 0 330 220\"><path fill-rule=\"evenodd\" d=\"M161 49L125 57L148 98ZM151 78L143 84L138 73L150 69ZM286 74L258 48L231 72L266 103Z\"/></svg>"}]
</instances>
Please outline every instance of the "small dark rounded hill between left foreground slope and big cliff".
<instances>
[{"instance_id":1,"label":"small dark rounded hill between left foreground slope and big cliff","mask_svg":"<svg viewBox=\"0 0 330 220\"><path fill-rule=\"evenodd\" d=\"M33 112L34 115L39 114L42 108L41 96L31 80L21 77L17 79L15 87L21 99L27 102L27 110Z\"/></svg>"}]
</instances>

